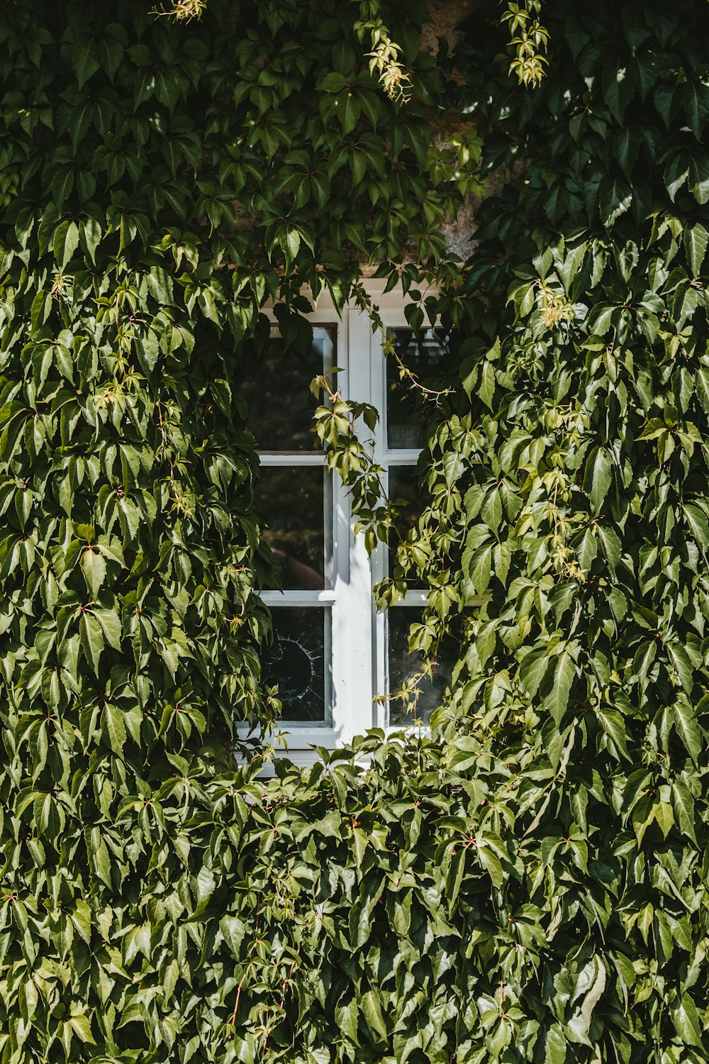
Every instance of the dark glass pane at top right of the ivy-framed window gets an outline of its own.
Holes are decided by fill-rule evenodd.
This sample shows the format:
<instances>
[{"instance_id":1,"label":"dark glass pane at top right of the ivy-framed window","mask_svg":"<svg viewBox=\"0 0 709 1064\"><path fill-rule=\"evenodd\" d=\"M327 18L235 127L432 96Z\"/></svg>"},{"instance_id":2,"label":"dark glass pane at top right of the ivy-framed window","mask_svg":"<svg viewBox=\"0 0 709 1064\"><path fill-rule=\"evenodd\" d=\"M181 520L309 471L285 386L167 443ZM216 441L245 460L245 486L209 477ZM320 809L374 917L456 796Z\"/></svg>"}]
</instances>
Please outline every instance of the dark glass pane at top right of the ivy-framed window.
<instances>
[{"instance_id":1,"label":"dark glass pane at top right of the ivy-framed window","mask_svg":"<svg viewBox=\"0 0 709 1064\"><path fill-rule=\"evenodd\" d=\"M417 379L431 383L440 375L443 334L437 329L390 329L394 351ZM389 447L423 447L428 411L419 388L400 379L399 364L387 355L387 444Z\"/></svg>"}]
</instances>

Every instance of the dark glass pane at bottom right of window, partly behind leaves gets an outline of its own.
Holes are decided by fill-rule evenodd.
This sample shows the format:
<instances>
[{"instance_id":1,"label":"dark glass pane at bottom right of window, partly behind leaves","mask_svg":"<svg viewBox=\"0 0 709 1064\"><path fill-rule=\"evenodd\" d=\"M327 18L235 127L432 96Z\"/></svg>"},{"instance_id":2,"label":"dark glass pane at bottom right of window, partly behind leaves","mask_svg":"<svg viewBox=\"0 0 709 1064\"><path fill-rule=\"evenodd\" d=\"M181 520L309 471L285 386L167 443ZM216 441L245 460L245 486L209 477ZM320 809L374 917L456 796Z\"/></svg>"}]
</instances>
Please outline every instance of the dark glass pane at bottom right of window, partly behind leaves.
<instances>
[{"instance_id":1,"label":"dark glass pane at bottom right of window, partly behind leaves","mask_svg":"<svg viewBox=\"0 0 709 1064\"><path fill-rule=\"evenodd\" d=\"M421 658L409 653L408 632L412 624L421 620L421 610L394 606L387 613L387 692L395 694L404 684L415 680L421 669ZM433 679L424 677L412 687L408 702L402 698L389 700L389 726L408 728L425 725L431 714L443 701L443 693L451 682L454 664L450 648L439 648L438 664Z\"/></svg>"}]
</instances>

